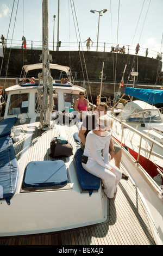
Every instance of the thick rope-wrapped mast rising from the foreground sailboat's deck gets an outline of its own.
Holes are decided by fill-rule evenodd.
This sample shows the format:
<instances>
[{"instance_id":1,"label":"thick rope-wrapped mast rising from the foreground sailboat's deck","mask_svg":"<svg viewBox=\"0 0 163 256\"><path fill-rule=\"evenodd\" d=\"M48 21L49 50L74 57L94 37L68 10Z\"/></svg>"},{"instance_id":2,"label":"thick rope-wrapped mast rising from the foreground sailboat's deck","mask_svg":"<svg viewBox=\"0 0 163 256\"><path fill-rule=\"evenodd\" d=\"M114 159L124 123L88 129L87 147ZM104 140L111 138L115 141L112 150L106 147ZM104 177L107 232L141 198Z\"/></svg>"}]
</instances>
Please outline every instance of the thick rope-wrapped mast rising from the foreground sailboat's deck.
<instances>
[{"instance_id":1,"label":"thick rope-wrapped mast rising from the foreground sailboat's deck","mask_svg":"<svg viewBox=\"0 0 163 256\"><path fill-rule=\"evenodd\" d=\"M49 54L48 39L48 0L42 1L42 107L40 113L41 129L50 129L51 112L53 108L53 78L49 63L52 56Z\"/></svg>"}]
</instances>

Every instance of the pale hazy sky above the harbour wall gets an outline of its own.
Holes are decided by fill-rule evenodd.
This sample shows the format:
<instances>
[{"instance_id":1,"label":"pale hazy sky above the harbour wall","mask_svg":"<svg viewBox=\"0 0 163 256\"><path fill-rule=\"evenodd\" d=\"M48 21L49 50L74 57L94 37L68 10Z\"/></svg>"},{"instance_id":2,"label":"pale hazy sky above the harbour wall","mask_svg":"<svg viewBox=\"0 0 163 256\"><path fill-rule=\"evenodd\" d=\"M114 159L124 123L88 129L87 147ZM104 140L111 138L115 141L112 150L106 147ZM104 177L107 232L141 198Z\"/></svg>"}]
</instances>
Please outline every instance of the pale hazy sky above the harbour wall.
<instances>
[{"instance_id":1,"label":"pale hazy sky above the harbour wall","mask_svg":"<svg viewBox=\"0 0 163 256\"><path fill-rule=\"evenodd\" d=\"M126 49L130 45L130 53L134 54L139 42L140 55L145 55L146 48L149 49L148 57L155 58L157 52L162 52L163 0L49 0L50 50L53 36L56 50L59 34L60 50L78 50L80 41L85 51L84 41L90 37L93 41L90 50L96 51L97 11L103 9L107 11L104 14L102 12L103 16L99 19L98 51L104 51L104 43L105 51L110 51L112 45L120 44L120 47L125 45ZM90 10L96 10L95 14ZM8 38L8 42L12 39L12 46L21 45L23 34L26 36L27 48L32 41L35 47L41 46L42 0L0 0L0 34Z\"/></svg>"}]
</instances>

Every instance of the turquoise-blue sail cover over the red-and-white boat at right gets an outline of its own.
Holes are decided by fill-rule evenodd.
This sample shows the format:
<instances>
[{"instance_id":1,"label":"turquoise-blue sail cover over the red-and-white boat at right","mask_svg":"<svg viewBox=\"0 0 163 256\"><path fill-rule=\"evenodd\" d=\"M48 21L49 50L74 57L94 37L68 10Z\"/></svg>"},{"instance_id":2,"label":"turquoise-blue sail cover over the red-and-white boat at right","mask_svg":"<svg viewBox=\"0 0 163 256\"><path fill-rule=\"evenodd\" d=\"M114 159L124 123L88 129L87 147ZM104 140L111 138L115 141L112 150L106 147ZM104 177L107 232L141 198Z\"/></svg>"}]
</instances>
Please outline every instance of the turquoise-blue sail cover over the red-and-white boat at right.
<instances>
[{"instance_id":1,"label":"turquoise-blue sail cover over the red-and-white boat at right","mask_svg":"<svg viewBox=\"0 0 163 256\"><path fill-rule=\"evenodd\" d=\"M126 87L124 93L149 104L163 103L163 90Z\"/></svg>"}]
</instances>

